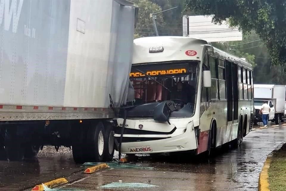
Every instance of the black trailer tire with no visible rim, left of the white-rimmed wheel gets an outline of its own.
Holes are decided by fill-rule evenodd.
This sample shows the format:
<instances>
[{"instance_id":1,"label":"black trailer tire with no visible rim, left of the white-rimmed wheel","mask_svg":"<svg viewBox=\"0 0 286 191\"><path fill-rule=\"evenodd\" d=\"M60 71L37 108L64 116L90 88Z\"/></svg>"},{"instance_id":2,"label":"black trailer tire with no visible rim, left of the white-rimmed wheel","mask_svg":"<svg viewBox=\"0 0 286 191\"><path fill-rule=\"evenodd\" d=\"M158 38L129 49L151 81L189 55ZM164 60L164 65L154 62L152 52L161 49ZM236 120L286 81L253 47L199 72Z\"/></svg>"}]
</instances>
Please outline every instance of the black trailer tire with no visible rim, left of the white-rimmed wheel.
<instances>
[{"instance_id":1,"label":"black trailer tire with no visible rim, left of the white-rimmed wheel","mask_svg":"<svg viewBox=\"0 0 286 191\"><path fill-rule=\"evenodd\" d=\"M71 149L75 163L86 162L86 142L85 133L82 125L75 125L75 129L71 129Z\"/></svg>"}]
</instances>

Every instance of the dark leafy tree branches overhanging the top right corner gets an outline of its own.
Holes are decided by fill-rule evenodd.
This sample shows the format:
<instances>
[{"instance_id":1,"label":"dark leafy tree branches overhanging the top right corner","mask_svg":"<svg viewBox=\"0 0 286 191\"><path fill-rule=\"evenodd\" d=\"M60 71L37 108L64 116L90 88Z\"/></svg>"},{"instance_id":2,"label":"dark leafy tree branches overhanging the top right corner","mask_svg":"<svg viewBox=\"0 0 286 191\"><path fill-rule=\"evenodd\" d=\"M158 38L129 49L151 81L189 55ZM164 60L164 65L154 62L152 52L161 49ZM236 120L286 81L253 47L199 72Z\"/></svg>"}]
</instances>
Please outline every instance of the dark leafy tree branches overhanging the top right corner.
<instances>
[{"instance_id":1,"label":"dark leafy tree branches overhanging the top right corner","mask_svg":"<svg viewBox=\"0 0 286 191\"><path fill-rule=\"evenodd\" d=\"M244 34L255 30L268 48L273 65L286 67L285 0L185 0L186 10L213 15L214 23L227 20Z\"/></svg>"}]
</instances>

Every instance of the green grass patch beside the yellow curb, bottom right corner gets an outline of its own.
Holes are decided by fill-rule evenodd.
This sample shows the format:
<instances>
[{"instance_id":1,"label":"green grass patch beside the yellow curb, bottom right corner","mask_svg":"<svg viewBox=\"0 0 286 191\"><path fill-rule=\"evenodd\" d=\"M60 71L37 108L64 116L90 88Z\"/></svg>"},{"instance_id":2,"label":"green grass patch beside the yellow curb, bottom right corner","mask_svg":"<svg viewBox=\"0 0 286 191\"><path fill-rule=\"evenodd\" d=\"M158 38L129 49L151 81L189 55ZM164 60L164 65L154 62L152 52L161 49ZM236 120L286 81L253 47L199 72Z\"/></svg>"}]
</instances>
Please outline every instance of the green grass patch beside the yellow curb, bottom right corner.
<instances>
[{"instance_id":1,"label":"green grass patch beside the yellow curb, bottom right corner","mask_svg":"<svg viewBox=\"0 0 286 191\"><path fill-rule=\"evenodd\" d=\"M271 191L286 191L286 144L273 154L268 175Z\"/></svg>"}]
</instances>

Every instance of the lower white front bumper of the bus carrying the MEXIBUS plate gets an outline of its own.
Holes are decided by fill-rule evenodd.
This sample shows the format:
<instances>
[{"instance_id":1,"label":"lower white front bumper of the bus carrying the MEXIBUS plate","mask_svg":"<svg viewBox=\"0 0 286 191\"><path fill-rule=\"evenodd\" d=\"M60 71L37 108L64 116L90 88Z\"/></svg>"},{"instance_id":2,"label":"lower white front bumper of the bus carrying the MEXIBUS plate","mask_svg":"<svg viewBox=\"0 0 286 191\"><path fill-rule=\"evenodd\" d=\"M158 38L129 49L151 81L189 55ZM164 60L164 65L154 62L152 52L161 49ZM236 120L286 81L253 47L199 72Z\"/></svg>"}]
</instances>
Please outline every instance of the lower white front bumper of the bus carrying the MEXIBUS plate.
<instances>
[{"instance_id":1,"label":"lower white front bumper of the bus carrying the MEXIBUS plate","mask_svg":"<svg viewBox=\"0 0 286 191\"><path fill-rule=\"evenodd\" d=\"M115 137L119 138L120 135L115 134ZM191 122L187 125L186 131L181 135L152 141L122 142L121 153L171 153L178 151L195 150L197 148L198 147L196 133L193 123Z\"/></svg>"}]
</instances>

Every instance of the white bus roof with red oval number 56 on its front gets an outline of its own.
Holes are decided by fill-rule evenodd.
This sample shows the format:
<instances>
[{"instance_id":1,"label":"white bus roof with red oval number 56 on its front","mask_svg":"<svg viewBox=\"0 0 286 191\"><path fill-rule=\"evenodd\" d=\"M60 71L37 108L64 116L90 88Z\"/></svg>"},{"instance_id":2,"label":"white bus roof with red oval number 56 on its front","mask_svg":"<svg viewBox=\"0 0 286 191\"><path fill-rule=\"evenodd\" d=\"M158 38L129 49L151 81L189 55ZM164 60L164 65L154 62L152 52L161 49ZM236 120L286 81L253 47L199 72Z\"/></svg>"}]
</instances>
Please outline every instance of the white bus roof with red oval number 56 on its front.
<instances>
[{"instance_id":1,"label":"white bus roof with red oval number 56 on its front","mask_svg":"<svg viewBox=\"0 0 286 191\"><path fill-rule=\"evenodd\" d=\"M164 50L158 53L149 53L149 49L152 47L163 47ZM154 36L135 39L132 63L139 64L178 60L201 61L207 49L211 49L209 52L213 56L235 62L244 67L252 68L251 64L243 59L214 48L205 40L181 36Z\"/></svg>"}]
</instances>

